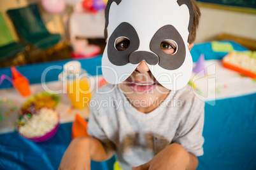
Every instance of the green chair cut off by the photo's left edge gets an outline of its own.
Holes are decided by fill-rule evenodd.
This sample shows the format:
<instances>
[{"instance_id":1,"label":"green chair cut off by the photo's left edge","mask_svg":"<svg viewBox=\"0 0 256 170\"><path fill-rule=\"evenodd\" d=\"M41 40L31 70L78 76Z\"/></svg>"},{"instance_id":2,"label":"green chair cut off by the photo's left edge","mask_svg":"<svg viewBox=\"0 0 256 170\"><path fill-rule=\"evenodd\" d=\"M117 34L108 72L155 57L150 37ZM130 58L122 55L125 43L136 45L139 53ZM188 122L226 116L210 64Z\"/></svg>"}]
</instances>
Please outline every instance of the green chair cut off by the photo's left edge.
<instances>
[{"instance_id":1,"label":"green chair cut off by the photo's left edge","mask_svg":"<svg viewBox=\"0 0 256 170\"><path fill-rule=\"evenodd\" d=\"M25 45L13 41L13 37L0 12L0 62L13 60L18 53L25 51Z\"/></svg>"}]
</instances>

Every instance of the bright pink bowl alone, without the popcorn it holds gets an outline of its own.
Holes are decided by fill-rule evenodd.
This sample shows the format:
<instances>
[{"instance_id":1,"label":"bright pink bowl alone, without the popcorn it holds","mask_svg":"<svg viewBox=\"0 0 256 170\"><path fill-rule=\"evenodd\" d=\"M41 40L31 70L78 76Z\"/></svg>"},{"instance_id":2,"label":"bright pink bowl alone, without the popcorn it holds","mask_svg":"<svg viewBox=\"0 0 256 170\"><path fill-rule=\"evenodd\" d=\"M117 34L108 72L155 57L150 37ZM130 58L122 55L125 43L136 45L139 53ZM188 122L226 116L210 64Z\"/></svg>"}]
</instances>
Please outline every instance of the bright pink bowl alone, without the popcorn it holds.
<instances>
[{"instance_id":1,"label":"bright pink bowl alone, without the popcorn it holds","mask_svg":"<svg viewBox=\"0 0 256 170\"><path fill-rule=\"evenodd\" d=\"M53 108L52 108L53 109ZM60 117L59 117L59 113L58 114L58 122L55 125L55 128L53 128L50 132L46 133L43 136L38 136L38 137L34 137L34 138L28 138L24 135L22 135L19 131L19 127L18 127L18 134L20 134L20 136L22 136L23 138L27 139L27 140L31 140L31 141L35 141L35 142L43 142L46 140L50 140L50 138L52 138L58 131L59 126L60 126Z\"/></svg>"}]
</instances>

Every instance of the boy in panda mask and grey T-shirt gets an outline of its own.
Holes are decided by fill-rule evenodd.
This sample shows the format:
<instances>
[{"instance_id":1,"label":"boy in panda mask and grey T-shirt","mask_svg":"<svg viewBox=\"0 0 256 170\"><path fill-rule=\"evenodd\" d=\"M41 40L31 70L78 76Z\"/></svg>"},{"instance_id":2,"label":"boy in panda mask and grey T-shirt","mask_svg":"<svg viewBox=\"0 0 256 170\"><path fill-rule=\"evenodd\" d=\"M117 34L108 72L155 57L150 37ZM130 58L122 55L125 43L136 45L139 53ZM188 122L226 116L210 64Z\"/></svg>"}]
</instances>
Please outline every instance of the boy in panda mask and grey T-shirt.
<instances>
[{"instance_id":1,"label":"boy in panda mask and grey T-shirt","mask_svg":"<svg viewBox=\"0 0 256 170\"><path fill-rule=\"evenodd\" d=\"M103 75L110 84L91 100L92 137L73 140L60 169L90 169L91 159L114 152L123 170L196 169L204 103L185 85L199 16L194 0L108 1Z\"/></svg>"}]
</instances>

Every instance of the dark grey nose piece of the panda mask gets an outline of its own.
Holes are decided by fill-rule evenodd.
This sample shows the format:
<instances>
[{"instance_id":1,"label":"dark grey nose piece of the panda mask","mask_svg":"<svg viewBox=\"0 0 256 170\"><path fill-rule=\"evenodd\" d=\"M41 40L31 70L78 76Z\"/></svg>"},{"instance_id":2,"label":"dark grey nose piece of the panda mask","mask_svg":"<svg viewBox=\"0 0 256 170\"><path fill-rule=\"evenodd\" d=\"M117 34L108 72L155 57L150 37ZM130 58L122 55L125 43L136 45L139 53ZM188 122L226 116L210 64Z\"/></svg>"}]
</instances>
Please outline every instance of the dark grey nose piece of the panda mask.
<instances>
[{"instance_id":1,"label":"dark grey nose piece of the panda mask","mask_svg":"<svg viewBox=\"0 0 256 170\"><path fill-rule=\"evenodd\" d=\"M150 65L156 65L159 63L159 57L148 51L135 51L129 56L129 62L132 64L138 64L145 60Z\"/></svg>"}]
</instances>

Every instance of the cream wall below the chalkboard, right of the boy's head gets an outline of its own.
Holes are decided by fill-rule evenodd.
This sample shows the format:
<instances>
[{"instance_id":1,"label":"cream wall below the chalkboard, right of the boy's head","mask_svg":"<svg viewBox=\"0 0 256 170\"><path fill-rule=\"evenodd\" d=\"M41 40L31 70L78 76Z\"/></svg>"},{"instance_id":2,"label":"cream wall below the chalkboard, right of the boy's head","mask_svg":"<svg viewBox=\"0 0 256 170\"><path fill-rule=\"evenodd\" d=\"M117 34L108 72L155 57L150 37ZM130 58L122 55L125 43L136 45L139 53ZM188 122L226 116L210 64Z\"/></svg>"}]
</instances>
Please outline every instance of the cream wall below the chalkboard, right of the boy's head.
<instances>
[{"instance_id":1,"label":"cream wall below the chalkboard, right of the boy's head","mask_svg":"<svg viewBox=\"0 0 256 170\"><path fill-rule=\"evenodd\" d=\"M195 42L211 41L222 33L256 40L256 14L201 6L199 8L201 22Z\"/></svg>"}]
</instances>

